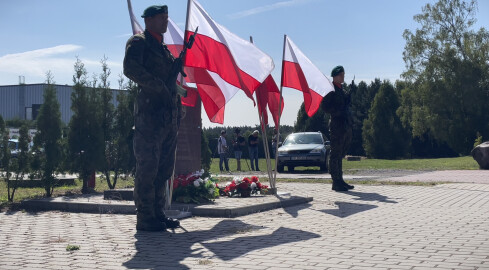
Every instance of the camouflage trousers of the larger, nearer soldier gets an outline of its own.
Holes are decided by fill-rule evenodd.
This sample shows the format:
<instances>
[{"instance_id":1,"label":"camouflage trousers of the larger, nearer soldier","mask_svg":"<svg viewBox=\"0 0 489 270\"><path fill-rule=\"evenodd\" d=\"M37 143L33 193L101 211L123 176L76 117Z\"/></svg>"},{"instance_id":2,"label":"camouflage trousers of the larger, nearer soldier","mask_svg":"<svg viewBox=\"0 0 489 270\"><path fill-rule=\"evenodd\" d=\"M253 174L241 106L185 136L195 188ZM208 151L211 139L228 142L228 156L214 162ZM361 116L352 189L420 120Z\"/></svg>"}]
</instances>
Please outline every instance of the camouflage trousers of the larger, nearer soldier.
<instances>
[{"instance_id":1,"label":"camouflage trousers of the larger, nearer soldier","mask_svg":"<svg viewBox=\"0 0 489 270\"><path fill-rule=\"evenodd\" d=\"M177 123L171 111L139 111L134 124L134 203L138 217L156 217L165 206L166 184L173 174Z\"/></svg>"}]
</instances>

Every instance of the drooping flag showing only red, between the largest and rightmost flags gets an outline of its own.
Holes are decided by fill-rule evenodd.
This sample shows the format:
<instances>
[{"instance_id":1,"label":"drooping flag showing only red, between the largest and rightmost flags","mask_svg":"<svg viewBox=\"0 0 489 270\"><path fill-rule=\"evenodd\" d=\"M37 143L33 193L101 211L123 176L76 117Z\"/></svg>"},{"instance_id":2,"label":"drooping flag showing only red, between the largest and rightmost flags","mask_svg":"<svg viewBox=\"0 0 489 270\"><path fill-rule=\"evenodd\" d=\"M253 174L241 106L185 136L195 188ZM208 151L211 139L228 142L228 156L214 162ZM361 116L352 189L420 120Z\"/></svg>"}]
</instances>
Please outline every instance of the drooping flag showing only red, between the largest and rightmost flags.
<instances>
[{"instance_id":1,"label":"drooping flag showing only red, between the largest and rightmost flags","mask_svg":"<svg viewBox=\"0 0 489 270\"><path fill-rule=\"evenodd\" d=\"M258 100L258 112L263 115L264 125L268 124L267 106L272 114L275 127L278 127L280 115L284 111L284 100L280 105L280 114L278 113L280 102L280 90L278 89L272 75L268 75L265 81L256 89L256 99ZM260 120L261 121L261 120Z\"/></svg>"}]
</instances>

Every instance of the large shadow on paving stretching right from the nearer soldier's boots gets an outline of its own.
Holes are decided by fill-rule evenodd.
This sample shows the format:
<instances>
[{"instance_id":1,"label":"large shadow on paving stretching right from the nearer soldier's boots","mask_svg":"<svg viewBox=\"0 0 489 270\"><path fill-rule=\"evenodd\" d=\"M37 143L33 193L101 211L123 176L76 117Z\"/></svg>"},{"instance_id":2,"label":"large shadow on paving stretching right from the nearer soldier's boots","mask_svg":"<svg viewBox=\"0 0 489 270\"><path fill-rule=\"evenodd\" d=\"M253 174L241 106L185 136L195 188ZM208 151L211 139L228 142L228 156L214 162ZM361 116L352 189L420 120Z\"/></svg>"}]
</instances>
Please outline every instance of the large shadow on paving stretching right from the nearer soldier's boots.
<instances>
[{"instance_id":1,"label":"large shadow on paving stretching right from the nearer soldier's boots","mask_svg":"<svg viewBox=\"0 0 489 270\"><path fill-rule=\"evenodd\" d=\"M186 258L199 258L203 263L211 264L214 255L221 260L231 260L256 249L320 237L301 230L279 228L270 235L243 236L228 241L205 243L262 228L240 220L223 220L210 230L176 234L136 232L136 254L123 265L129 269L190 269L181 264ZM209 254L200 246L214 254Z\"/></svg>"}]
</instances>

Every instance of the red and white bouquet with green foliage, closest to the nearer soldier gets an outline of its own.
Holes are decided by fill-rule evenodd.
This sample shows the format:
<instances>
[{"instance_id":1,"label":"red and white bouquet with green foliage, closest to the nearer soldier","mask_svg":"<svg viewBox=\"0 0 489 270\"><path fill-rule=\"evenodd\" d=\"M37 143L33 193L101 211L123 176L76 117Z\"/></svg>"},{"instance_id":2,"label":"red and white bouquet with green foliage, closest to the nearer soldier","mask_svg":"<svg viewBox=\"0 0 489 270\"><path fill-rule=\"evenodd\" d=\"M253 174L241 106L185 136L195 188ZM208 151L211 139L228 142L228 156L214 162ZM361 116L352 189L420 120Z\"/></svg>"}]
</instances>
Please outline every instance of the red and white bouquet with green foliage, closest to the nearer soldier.
<instances>
[{"instance_id":1,"label":"red and white bouquet with green foliage, closest to the nearer soldier","mask_svg":"<svg viewBox=\"0 0 489 270\"><path fill-rule=\"evenodd\" d=\"M203 170L178 175L173 180L173 200L181 203L203 203L219 197L217 180L202 178Z\"/></svg>"}]
</instances>

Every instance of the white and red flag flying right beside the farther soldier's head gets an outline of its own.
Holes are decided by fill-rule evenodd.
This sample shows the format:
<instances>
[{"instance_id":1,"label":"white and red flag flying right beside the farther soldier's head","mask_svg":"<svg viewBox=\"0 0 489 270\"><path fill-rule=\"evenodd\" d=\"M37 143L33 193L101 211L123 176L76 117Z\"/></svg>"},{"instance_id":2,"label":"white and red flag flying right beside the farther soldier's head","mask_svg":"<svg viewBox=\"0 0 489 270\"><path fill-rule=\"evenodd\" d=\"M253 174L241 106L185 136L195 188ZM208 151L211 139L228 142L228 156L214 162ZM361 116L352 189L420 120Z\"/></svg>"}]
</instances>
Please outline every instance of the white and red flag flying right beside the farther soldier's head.
<instances>
[{"instance_id":1,"label":"white and red flag flying right beside the farther soldier's head","mask_svg":"<svg viewBox=\"0 0 489 270\"><path fill-rule=\"evenodd\" d=\"M304 106L309 117L313 116L323 97L334 91L331 81L285 36L282 63L282 86L302 91Z\"/></svg>"}]
</instances>

